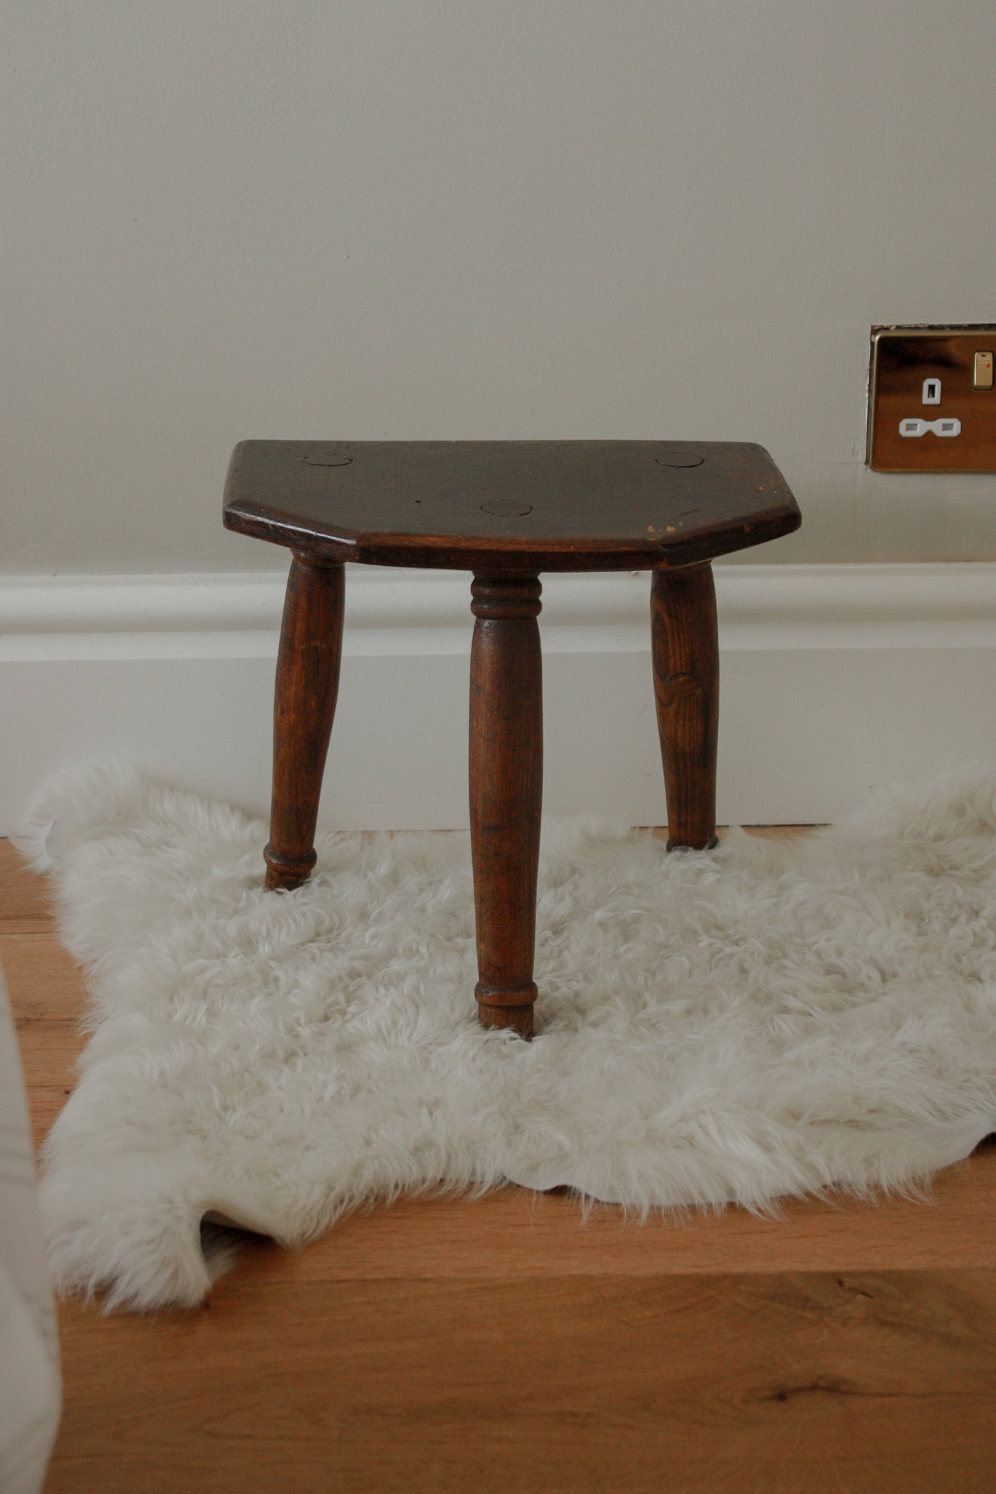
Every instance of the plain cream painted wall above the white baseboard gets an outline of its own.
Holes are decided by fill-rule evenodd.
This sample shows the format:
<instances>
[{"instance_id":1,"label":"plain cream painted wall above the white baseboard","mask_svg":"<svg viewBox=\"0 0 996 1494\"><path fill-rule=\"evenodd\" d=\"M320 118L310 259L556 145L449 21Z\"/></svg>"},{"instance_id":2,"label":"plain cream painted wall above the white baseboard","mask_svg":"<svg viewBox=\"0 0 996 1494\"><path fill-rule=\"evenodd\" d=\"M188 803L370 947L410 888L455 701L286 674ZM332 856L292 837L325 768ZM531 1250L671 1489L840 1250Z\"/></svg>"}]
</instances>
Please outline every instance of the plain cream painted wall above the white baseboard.
<instances>
[{"instance_id":1,"label":"plain cream painted wall above the white baseboard","mask_svg":"<svg viewBox=\"0 0 996 1494\"><path fill-rule=\"evenodd\" d=\"M0 569L281 565L242 436L754 439L750 560L996 553L863 468L874 321L996 317L993 0L7 0Z\"/></svg>"}]
</instances>

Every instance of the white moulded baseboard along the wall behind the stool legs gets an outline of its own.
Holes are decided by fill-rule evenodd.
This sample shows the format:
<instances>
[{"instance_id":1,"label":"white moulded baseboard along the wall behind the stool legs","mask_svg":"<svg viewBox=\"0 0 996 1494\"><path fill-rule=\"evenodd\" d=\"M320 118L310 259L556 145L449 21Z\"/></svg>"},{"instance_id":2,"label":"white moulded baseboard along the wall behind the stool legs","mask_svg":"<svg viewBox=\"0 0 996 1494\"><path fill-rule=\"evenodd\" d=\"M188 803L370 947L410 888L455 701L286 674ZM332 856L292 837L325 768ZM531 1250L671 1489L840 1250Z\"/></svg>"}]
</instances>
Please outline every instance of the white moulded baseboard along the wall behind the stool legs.
<instances>
[{"instance_id":1,"label":"white moulded baseboard along the wall behind the stool legs","mask_svg":"<svg viewBox=\"0 0 996 1494\"><path fill-rule=\"evenodd\" d=\"M717 566L721 822L996 759L996 565ZM469 575L351 568L323 822L464 826ZM544 577L551 814L664 819L647 572ZM266 813L279 574L0 580L0 832L121 756Z\"/></svg>"}]
</instances>

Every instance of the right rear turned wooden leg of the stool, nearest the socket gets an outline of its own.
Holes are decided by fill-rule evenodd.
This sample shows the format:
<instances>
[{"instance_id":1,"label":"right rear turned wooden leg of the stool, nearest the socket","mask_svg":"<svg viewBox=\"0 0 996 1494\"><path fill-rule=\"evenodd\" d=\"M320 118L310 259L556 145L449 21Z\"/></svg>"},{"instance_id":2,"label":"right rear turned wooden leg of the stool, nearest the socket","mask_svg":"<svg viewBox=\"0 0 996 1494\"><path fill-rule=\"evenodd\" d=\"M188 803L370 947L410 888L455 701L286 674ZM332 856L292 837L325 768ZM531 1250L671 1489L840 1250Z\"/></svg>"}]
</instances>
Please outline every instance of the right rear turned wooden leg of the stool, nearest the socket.
<instances>
[{"instance_id":1,"label":"right rear turned wooden leg of the stool, nearest the socket","mask_svg":"<svg viewBox=\"0 0 996 1494\"><path fill-rule=\"evenodd\" d=\"M650 636L664 759L667 850L708 850L717 844L720 725L720 648L711 565L654 571Z\"/></svg>"}]
</instances>

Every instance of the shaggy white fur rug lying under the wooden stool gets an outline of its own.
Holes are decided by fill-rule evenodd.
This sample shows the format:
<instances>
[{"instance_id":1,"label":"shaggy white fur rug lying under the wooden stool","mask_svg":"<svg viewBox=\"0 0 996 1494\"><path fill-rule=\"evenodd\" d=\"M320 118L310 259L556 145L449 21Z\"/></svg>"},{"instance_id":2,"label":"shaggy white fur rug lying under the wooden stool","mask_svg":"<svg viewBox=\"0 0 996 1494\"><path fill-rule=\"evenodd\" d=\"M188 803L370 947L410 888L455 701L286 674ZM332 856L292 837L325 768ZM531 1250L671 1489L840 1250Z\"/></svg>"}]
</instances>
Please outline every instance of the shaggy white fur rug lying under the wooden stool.
<instances>
[{"instance_id":1,"label":"shaggy white fur rug lying under the wooden stool","mask_svg":"<svg viewBox=\"0 0 996 1494\"><path fill-rule=\"evenodd\" d=\"M900 1188L996 1125L996 775L791 843L547 825L538 1035L478 1026L464 835L266 828L121 768L19 837L54 872L93 1040L46 1147L63 1291L194 1304L205 1216L296 1245L424 1188L763 1207Z\"/></svg>"}]
</instances>

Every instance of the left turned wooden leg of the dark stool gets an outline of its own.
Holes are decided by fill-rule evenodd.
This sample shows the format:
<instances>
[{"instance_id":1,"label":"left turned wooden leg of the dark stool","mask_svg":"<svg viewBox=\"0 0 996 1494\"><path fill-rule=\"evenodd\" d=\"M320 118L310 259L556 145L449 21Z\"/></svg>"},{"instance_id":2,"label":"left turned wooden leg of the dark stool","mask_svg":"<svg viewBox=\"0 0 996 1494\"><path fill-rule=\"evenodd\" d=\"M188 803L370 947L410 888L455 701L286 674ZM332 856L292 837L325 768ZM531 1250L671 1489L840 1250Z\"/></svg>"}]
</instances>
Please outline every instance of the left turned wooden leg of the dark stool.
<instances>
[{"instance_id":1,"label":"left turned wooden leg of the dark stool","mask_svg":"<svg viewBox=\"0 0 996 1494\"><path fill-rule=\"evenodd\" d=\"M315 823L339 692L345 571L294 556L273 698L273 798L266 886L297 887L315 865Z\"/></svg>"}]
</instances>

